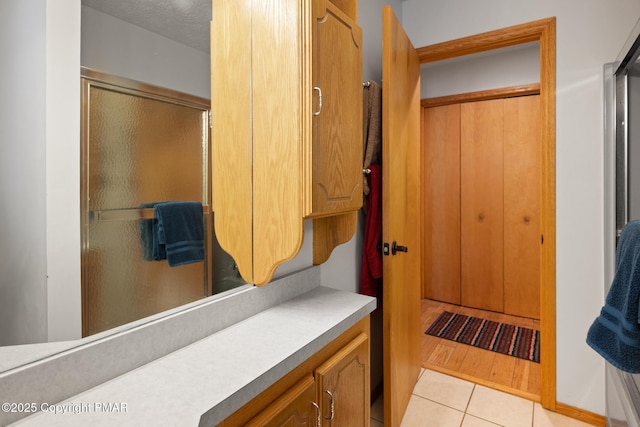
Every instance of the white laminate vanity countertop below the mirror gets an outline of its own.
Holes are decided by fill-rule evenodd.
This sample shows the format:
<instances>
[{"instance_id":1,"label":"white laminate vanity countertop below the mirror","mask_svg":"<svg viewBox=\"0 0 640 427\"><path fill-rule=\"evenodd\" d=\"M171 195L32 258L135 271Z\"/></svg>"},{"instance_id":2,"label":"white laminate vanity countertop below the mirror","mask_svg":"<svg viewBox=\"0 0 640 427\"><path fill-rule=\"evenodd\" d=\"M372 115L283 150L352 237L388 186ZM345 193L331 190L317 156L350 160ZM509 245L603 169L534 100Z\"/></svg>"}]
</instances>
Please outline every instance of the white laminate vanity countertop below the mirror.
<instances>
[{"instance_id":1,"label":"white laminate vanity countertop below the mirror","mask_svg":"<svg viewBox=\"0 0 640 427\"><path fill-rule=\"evenodd\" d=\"M14 425L212 426L375 306L371 297L316 287Z\"/></svg>"}]
</instances>

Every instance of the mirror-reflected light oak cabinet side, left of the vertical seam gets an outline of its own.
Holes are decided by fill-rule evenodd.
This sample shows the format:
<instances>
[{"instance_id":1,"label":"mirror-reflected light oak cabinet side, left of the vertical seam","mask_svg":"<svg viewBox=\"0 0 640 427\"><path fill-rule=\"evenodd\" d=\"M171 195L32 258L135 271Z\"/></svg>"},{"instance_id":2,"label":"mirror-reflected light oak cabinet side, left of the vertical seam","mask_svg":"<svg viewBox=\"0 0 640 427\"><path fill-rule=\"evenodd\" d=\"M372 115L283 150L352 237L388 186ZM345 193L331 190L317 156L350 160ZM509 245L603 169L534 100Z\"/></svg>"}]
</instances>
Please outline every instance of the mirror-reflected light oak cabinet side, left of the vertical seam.
<instances>
[{"instance_id":1,"label":"mirror-reflected light oak cabinet side, left of the vertical seam","mask_svg":"<svg viewBox=\"0 0 640 427\"><path fill-rule=\"evenodd\" d=\"M215 232L244 280L253 282L251 8L214 0L211 22L211 175ZM233 102L230 102L233 100Z\"/></svg>"}]
</instances>

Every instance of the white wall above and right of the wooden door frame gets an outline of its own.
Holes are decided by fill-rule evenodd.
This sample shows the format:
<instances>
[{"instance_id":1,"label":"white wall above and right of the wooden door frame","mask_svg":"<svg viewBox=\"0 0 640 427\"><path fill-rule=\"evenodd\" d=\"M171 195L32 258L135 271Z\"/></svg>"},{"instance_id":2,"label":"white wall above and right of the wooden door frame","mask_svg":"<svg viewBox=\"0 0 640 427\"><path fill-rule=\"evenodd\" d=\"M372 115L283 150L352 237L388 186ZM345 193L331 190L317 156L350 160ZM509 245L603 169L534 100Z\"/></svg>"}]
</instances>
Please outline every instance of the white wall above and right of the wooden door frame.
<instances>
[{"instance_id":1,"label":"white wall above and right of the wooden door frame","mask_svg":"<svg viewBox=\"0 0 640 427\"><path fill-rule=\"evenodd\" d=\"M640 17L620 0L406 0L416 47L557 17L557 400L604 414L604 361L585 344L604 302L603 75Z\"/></svg>"}]
</instances>

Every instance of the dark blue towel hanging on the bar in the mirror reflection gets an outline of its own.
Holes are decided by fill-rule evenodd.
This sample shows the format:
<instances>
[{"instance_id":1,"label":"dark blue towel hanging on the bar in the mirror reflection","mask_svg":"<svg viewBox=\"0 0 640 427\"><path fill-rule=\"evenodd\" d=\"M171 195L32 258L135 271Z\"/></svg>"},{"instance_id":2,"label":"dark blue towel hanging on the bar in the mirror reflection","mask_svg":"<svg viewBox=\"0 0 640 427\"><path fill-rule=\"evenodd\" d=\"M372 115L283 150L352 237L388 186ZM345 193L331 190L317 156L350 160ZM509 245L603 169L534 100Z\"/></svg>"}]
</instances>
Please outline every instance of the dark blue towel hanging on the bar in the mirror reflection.
<instances>
[{"instance_id":1,"label":"dark blue towel hanging on the bar in the mirror reflection","mask_svg":"<svg viewBox=\"0 0 640 427\"><path fill-rule=\"evenodd\" d=\"M154 259L164 249L170 267L203 261L202 203L164 202L154 208Z\"/></svg>"}]
</instances>

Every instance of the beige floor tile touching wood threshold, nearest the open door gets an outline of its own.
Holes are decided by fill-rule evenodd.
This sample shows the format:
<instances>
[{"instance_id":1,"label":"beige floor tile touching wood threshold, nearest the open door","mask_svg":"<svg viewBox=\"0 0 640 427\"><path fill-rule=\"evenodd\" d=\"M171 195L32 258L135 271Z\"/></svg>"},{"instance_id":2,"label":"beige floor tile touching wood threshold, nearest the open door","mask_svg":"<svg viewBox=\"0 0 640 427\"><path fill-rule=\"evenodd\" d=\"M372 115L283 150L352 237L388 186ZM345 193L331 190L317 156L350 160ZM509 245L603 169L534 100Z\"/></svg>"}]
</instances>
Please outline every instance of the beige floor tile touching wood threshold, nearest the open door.
<instances>
[{"instance_id":1,"label":"beige floor tile touching wood threshold, nearest the open door","mask_svg":"<svg viewBox=\"0 0 640 427\"><path fill-rule=\"evenodd\" d=\"M473 386L469 381L427 369L416 384L413 394L464 412Z\"/></svg>"}]
</instances>

